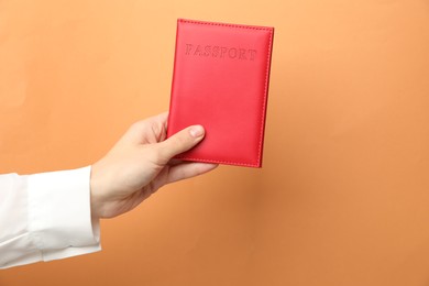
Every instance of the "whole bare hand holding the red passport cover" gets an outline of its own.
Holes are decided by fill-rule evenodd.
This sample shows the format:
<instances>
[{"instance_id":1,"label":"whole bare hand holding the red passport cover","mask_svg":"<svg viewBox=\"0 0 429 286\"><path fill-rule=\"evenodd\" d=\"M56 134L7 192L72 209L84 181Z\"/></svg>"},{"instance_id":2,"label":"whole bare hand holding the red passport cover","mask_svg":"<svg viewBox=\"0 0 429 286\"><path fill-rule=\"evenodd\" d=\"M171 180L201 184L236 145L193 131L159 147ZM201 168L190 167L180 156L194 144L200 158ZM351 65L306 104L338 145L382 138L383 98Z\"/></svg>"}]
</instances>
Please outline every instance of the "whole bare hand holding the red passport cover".
<instances>
[{"instance_id":1,"label":"whole bare hand holding the red passport cover","mask_svg":"<svg viewBox=\"0 0 429 286\"><path fill-rule=\"evenodd\" d=\"M216 164L172 160L205 136L201 125L166 138L167 113L134 123L110 152L91 167L92 217L113 218L139 206L160 187L190 178Z\"/></svg>"}]
</instances>

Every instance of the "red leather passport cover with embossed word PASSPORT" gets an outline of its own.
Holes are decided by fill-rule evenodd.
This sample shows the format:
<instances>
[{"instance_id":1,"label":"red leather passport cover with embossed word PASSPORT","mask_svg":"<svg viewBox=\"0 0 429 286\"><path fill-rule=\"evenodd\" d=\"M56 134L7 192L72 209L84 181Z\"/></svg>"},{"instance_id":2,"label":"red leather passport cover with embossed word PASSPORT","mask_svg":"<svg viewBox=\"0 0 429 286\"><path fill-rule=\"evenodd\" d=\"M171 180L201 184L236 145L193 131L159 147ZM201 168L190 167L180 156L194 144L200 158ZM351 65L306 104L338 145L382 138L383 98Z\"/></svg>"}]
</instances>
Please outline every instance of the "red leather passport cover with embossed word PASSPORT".
<instances>
[{"instance_id":1,"label":"red leather passport cover with embossed word PASSPORT","mask_svg":"<svg viewBox=\"0 0 429 286\"><path fill-rule=\"evenodd\" d=\"M206 138L185 161L261 167L273 28L177 21L167 136Z\"/></svg>"}]
</instances>

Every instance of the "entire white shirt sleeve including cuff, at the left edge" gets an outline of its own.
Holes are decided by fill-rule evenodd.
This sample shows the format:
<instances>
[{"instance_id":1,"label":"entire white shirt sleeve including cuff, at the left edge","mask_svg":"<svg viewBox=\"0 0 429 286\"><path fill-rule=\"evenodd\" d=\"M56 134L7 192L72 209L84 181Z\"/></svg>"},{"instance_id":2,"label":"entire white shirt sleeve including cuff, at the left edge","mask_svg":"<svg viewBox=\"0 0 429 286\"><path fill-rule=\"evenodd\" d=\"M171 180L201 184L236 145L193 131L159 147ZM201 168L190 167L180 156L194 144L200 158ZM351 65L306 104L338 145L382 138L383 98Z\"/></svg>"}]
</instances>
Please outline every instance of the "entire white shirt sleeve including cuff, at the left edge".
<instances>
[{"instance_id":1,"label":"entire white shirt sleeve including cuff, at the left edge","mask_svg":"<svg viewBox=\"0 0 429 286\"><path fill-rule=\"evenodd\" d=\"M0 175L0 268L99 251L90 167Z\"/></svg>"}]
</instances>

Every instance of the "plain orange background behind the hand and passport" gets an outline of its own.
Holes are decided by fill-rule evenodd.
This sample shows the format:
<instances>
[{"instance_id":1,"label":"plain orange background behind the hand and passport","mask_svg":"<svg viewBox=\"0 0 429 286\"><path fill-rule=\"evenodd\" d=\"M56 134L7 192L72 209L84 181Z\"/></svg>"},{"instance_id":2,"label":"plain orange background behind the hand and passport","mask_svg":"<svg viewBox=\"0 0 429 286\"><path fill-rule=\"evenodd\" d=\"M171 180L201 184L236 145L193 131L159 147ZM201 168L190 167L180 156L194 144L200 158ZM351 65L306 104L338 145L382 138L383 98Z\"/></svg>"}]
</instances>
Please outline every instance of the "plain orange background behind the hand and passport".
<instances>
[{"instance_id":1,"label":"plain orange background behind the hand and passport","mask_svg":"<svg viewBox=\"0 0 429 286\"><path fill-rule=\"evenodd\" d=\"M262 169L102 221L14 285L428 285L427 0L0 1L0 173L75 168L168 109L176 19L276 28Z\"/></svg>"}]
</instances>

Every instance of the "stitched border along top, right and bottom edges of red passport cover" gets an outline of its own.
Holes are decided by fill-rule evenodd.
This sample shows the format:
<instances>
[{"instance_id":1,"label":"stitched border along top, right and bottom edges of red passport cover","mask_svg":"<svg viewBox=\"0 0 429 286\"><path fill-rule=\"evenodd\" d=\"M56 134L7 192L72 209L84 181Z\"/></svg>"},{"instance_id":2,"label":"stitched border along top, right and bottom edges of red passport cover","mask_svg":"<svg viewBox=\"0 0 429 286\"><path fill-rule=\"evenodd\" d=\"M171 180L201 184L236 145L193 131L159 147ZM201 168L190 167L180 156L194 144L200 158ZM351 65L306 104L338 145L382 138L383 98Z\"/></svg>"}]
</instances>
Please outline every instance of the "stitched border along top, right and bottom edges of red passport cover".
<instances>
[{"instance_id":1,"label":"stitched border along top, right and bottom edges of red passport cover","mask_svg":"<svg viewBox=\"0 0 429 286\"><path fill-rule=\"evenodd\" d=\"M183 23L189 23L189 24L219 25L219 26L228 26L228 28L263 30L263 31L270 32L268 50L267 50L267 56L266 56L264 99L263 99L263 105L262 105L262 117L261 117L261 129L260 129L260 144L258 144L258 150L257 150L257 163L256 164L248 164L248 163L233 162L233 161L206 160L206 158L186 157L186 156L179 157L179 158L187 158L187 160L206 161L206 162L211 162L211 163L235 164L235 165L241 165L241 166L260 166L261 165L263 134L264 134L264 123L265 123L264 118L265 118L265 113L266 113L266 98L267 98L267 90L268 90L270 57L271 57L271 53L272 53L271 50L272 50L272 43L273 43L273 30L268 29L268 28L263 28L263 26L249 26L249 25L238 25L238 24L216 23L216 22L204 22L204 21L185 20L185 19L179 19L178 21L183 22Z\"/></svg>"}]
</instances>

